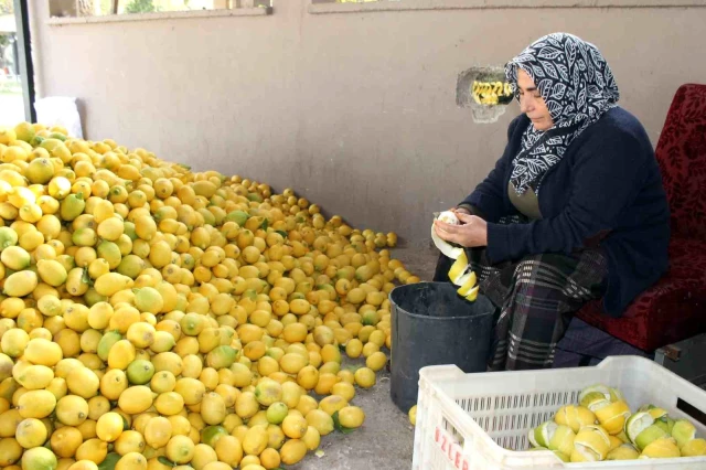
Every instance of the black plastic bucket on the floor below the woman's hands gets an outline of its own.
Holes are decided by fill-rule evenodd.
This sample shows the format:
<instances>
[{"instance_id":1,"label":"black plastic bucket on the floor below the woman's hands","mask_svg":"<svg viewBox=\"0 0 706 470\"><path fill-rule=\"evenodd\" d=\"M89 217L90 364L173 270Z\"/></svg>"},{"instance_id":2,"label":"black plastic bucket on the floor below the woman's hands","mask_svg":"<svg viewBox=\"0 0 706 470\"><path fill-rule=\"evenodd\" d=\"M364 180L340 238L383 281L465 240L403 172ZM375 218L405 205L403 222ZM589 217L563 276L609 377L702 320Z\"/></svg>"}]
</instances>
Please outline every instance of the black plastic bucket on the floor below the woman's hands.
<instances>
[{"instance_id":1,"label":"black plastic bucket on the floor below the woman's hands","mask_svg":"<svg viewBox=\"0 0 706 470\"><path fill-rule=\"evenodd\" d=\"M392 303L391 396L404 413L417 403L419 370L456 364L466 373L485 372L493 328L493 303L469 302L450 282L419 282L389 292Z\"/></svg>"}]
</instances>

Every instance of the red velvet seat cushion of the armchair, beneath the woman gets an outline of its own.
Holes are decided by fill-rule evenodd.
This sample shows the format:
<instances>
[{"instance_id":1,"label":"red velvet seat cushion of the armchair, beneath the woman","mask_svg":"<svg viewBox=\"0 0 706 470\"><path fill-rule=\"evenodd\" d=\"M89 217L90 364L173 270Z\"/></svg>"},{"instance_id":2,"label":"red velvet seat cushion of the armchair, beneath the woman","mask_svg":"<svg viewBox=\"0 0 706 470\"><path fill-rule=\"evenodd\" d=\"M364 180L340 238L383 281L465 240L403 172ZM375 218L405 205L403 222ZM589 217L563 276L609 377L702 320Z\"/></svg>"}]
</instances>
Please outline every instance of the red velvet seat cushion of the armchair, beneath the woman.
<instances>
[{"instance_id":1,"label":"red velvet seat cushion of the armchair, beneath the woman","mask_svg":"<svg viewBox=\"0 0 706 470\"><path fill-rule=\"evenodd\" d=\"M670 270L641 293L621 318L603 312L602 301L577 317L643 351L654 351L706 331L706 242L673 237Z\"/></svg>"}]
</instances>

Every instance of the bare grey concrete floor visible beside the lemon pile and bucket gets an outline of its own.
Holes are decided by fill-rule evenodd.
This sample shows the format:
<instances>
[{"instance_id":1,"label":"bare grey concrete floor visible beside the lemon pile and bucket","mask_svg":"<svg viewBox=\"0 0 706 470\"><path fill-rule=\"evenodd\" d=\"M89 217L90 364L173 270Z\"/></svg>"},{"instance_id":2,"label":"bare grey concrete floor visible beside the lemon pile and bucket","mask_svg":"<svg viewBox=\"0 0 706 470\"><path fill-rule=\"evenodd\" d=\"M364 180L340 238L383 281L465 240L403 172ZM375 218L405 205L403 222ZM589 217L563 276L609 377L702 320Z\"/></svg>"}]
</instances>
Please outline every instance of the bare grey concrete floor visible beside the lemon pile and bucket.
<instances>
[{"instance_id":1,"label":"bare grey concrete floor visible beside the lemon pile and bucket","mask_svg":"<svg viewBox=\"0 0 706 470\"><path fill-rule=\"evenodd\" d=\"M393 258L422 280L431 280L438 250L429 246L395 248ZM362 363L355 361L352 363ZM322 457L309 453L288 470L409 470L411 469L414 428L389 397L389 373L377 374L371 389L356 388L353 404L365 412L365 423L356 431L332 432L321 439Z\"/></svg>"}]
</instances>

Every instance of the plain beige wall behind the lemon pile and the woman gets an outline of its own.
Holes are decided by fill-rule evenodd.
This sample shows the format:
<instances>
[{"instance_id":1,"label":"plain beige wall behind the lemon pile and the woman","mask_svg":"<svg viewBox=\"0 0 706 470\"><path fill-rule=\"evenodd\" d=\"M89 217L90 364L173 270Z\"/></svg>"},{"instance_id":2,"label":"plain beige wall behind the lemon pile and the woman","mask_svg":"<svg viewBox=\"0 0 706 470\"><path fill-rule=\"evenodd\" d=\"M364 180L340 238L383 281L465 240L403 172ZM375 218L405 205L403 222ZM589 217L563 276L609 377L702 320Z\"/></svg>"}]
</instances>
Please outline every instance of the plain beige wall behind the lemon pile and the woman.
<instances>
[{"instance_id":1,"label":"plain beige wall behind the lemon pile and the woman","mask_svg":"<svg viewBox=\"0 0 706 470\"><path fill-rule=\"evenodd\" d=\"M426 242L431 212L488 173L518 113L513 104L499 122L473 124L456 106L459 72L573 32L602 50L654 143L677 86L706 77L706 8L310 14L308 3L58 26L38 1L40 93L79 97L92 139L292 186L355 226Z\"/></svg>"}]
</instances>

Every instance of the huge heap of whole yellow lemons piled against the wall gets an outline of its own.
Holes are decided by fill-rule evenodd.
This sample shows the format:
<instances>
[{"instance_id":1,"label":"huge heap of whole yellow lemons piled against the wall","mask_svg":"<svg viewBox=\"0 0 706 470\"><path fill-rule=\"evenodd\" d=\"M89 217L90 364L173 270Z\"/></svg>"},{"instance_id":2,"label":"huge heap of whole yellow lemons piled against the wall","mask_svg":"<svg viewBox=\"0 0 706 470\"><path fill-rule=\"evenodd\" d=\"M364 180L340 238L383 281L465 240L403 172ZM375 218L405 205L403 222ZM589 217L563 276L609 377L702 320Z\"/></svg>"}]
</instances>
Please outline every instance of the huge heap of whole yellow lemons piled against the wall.
<instances>
[{"instance_id":1,"label":"huge heap of whole yellow lemons piled against the wall","mask_svg":"<svg viewBox=\"0 0 706 470\"><path fill-rule=\"evenodd\" d=\"M363 424L387 295L419 281L396 242L292 190L0 129L0 468L298 462Z\"/></svg>"}]
</instances>

